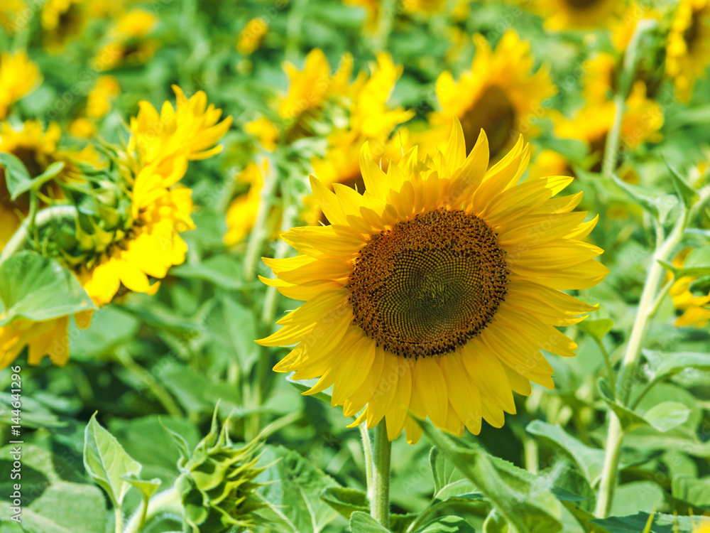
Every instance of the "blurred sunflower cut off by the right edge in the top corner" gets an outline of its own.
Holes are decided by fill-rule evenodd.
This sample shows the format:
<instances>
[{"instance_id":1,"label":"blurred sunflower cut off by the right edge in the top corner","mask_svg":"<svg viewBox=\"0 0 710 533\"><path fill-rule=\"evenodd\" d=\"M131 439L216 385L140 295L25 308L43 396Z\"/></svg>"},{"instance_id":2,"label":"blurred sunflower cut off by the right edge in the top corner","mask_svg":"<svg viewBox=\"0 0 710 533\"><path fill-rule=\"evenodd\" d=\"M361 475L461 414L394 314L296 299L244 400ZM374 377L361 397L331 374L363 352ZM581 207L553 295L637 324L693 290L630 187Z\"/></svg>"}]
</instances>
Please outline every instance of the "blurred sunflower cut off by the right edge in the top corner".
<instances>
[{"instance_id":1,"label":"blurred sunflower cut off by the right edge in the top corner","mask_svg":"<svg viewBox=\"0 0 710 533\"><path fill-rule=\"evenodd\" d=\"M680 0L666 46L665 72L676 94L687 102L697 77L710 62L710 1Z\"/></svg>"}]
</instances>

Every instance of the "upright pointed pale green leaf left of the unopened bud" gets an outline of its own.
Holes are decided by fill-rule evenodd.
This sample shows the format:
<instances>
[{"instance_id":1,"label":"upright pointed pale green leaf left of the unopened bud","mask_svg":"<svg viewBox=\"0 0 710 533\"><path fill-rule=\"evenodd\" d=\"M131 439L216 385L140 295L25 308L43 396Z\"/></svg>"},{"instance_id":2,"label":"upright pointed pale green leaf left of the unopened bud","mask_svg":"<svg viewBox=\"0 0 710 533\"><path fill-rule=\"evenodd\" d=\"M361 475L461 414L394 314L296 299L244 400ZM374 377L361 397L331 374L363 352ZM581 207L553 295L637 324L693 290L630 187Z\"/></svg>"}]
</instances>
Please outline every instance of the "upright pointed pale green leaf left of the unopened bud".
<instances>
[{"instance_id":1,"label":"upright pointed pale green leaf left of the unopened bud","mask_svg":"<svg viewBox=\"0 0 710 533\"><path fill-rule=\"evenodd\" d=\"M84 467L94 481L103 488L119 507L131 483L124 475L141 473L141 464L133 461L124 448L96 421L96 413L84 431Z\"/></svg>"}]
</instances>

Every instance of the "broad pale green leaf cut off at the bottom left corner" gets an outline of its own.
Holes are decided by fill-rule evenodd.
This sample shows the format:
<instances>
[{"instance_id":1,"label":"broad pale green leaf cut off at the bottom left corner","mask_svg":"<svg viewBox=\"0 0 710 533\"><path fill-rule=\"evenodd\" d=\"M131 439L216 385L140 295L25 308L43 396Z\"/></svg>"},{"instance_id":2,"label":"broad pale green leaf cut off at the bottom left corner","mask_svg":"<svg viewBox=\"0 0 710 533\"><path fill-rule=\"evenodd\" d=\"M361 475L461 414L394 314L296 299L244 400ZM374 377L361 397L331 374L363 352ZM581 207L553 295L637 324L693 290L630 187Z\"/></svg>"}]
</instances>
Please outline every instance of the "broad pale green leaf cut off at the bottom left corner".
<instances>
[{"instance_id":1,"label":"broad pale green leaf cut off at the bottom left corner","mask_svg":"<svg viewBox=\"0 0 710 533\"><path fill-rule=\"evenodd\" d=\"M33 533L104 533L106 522L104 495L87 484L50 485L22 512L23 527Z\"/></svg>"}]
</instances>

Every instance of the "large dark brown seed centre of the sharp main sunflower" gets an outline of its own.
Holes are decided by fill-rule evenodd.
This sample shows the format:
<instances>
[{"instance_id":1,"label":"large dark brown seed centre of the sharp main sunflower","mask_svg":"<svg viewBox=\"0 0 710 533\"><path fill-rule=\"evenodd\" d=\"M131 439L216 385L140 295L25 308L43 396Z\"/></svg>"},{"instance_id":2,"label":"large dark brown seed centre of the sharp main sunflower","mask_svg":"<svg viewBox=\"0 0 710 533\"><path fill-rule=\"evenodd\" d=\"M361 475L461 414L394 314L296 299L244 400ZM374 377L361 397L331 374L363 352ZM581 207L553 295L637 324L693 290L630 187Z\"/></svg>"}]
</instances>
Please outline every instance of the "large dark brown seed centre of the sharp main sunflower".
<instances>
[{"instance_id":1,"label":"large dark brown seed centre of the sharp main sunflower","mask_svg":"<svg viewBox=\"0 0 710 533\"><path fill-rule=\"evenodd\" d=\"M373 235L348 279L354 323L403 357L452 352L506 296L496 234L475 215L439 209Z\"/></svg>"}]
</instances>

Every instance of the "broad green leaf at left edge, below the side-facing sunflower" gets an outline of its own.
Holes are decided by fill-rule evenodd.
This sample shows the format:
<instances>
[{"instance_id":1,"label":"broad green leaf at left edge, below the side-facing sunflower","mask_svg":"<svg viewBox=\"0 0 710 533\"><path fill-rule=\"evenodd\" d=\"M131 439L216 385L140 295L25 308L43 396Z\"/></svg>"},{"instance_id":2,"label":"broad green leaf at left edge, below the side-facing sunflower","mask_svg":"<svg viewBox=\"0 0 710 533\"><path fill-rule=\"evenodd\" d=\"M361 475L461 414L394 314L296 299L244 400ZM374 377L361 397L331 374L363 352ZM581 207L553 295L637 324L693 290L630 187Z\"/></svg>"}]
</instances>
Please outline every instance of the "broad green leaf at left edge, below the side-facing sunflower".
<instances>
[{"instance_id":1,"label":"broad green leaf at left edge, below the side-facing sunflower","mask_svg":"<svg viewBox=\"0 0 710 533\"><path fill-rule=\"evenodd\" d=\"M16 318L40 322L96 308L74 274L38 254L11 255L0 265L0 279L0 327Z\"/></svg>"}]
</instances>

